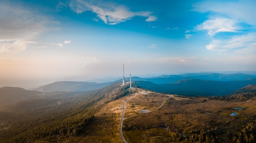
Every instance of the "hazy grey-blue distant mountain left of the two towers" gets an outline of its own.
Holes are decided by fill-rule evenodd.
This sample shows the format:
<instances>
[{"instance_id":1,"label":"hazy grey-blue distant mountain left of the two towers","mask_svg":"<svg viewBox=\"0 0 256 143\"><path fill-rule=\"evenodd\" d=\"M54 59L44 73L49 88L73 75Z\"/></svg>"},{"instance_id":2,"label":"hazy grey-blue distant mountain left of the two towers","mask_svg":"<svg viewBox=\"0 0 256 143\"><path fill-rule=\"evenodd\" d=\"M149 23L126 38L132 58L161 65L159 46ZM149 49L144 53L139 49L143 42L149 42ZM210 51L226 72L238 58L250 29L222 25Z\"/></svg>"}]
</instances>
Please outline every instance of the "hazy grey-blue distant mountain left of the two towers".
<instances>
[{"instance_id":1,"label":"hazy grey-blue distant mountain left of the two towers","mask_svg":"<svg viewBox=\"0 0 256 143\"><path fill-rule=\"evenodd\" d=\"M57 92L57 91L66 91L66 92L76 92L76 91L88 91L95 90L106 87L113 82L107 83L96 83L96 82L83 82L83 81L58 81L53 82L47 85L40 86L33 90L39 92Z\"/></svg>"}]
</instances>

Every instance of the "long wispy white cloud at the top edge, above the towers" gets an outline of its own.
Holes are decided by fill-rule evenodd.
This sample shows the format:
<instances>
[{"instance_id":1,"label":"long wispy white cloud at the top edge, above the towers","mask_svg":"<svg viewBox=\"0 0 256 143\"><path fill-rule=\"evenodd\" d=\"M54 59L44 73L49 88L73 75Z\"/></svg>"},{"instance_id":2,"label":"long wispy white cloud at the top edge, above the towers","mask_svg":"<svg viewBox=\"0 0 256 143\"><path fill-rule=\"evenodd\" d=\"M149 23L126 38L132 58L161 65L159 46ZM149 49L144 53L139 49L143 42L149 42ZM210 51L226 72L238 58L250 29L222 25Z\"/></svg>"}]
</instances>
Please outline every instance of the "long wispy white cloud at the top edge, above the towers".
<instances>
[{"instance_id":1,"label":"long wispy white cloud at the top edge, above the towers","mask_svg":"<svg viewBox=\"0 0 256 143\"><path fill-rule=\"evenodd\" d=\"M92 11L97 14L98 18L106 24L115 25L120 22L132 19L134 16L147 17L145 21L156 21L157 17L152 15L149 11L133 12L124 5L118 5L110 2L102 1L85 1L85 0L71 0L69 7L81 14L85 11Z\"/></svg>"}]
</instances>

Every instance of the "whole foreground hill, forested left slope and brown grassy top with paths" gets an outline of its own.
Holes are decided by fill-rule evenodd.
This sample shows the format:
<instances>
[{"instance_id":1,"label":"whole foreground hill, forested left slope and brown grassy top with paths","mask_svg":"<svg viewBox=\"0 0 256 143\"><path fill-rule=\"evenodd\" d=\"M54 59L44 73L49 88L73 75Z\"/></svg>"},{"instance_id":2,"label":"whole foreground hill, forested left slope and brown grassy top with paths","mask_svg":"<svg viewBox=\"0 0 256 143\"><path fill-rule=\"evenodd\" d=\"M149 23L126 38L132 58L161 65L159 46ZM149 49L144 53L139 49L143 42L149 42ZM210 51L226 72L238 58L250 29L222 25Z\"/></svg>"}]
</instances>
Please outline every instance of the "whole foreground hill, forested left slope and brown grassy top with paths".
<instances>
[{"instance_id":1,"label":"whole foreground hill, forested left slope and brown grassy top with paths","mask_svg":"<svg viewBox=\"0 0 256 143\"><path fill-rule=\"evenodd\" d=\"M113 83L99 90L35 95L28 91L31 99L1 106L0 134L5 139L0 142L235 143L256 137L255 85L227 97L157 93L138 88L136 82L132 86Z\"/></svg>"}]
</instances>

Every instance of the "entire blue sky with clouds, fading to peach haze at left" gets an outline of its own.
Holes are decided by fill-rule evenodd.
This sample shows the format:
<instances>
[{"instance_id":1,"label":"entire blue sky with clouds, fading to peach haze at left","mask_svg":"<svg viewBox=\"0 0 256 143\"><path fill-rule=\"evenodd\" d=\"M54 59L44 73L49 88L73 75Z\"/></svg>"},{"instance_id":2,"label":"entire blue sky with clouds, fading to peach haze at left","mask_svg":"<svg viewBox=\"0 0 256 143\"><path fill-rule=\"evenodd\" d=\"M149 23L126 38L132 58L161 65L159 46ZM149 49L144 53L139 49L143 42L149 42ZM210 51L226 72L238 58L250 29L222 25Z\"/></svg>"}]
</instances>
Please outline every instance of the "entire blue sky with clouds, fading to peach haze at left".
<instances>
[{"instance_id":1,"label":"entire blue sky with clouds, fading to peach haze at left","mask_svg":"<svg viewBox=\"0 0 256 143\"><path fill-rule=\"evenodd\" d=\"M0 0L0 82L256 71L255 0Z\"/></svg>"}]
</instances>

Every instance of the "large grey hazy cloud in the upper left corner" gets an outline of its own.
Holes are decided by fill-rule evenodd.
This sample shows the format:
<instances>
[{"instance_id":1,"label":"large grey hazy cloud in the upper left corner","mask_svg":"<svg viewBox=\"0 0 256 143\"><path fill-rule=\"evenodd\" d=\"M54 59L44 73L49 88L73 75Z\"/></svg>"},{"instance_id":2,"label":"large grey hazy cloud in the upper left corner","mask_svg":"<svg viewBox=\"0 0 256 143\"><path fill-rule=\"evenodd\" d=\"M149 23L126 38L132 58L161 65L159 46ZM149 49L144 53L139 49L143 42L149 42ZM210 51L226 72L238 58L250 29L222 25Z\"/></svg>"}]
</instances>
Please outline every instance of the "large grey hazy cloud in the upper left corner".
<instances>
[{"instance_id":1,"label":"large grey hazy cloud in the upper left corner","mask_svg":"<svg viewBox=\"0 0 256 143\"><path fill-rule=\"evenodd\" d=\"M1 52L26 50L28 44L37 43L33 39L53 29L49 25L58 23L7 1L0 5L0 21Z\"/></svg>"}]
</instances>

